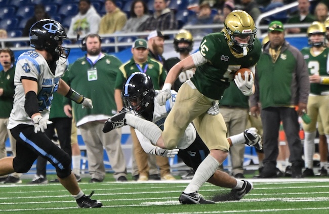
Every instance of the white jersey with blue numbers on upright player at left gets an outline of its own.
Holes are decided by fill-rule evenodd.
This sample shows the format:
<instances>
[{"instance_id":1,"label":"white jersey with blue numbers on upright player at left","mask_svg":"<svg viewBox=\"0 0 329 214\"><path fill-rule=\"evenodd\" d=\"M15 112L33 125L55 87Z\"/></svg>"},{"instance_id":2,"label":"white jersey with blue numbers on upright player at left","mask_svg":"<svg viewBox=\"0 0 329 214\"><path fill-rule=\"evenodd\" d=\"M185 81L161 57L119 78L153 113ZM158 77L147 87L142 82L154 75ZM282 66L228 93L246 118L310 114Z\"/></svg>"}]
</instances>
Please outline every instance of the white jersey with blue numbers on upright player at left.
<instances>
[{"instance_id":1,"label":"white jersey with blue numbers on upright player at left","mask_svg":"<svg viewBox=\"0 0 329 214\"><path fill-rule=\"evenodd\" d=\"M56 61L56 65L55 74L53 74L46 59L36 51L28 51L18 57L14 78L14 104L9 118L8 129L12 129L18 124L33 125L24 108L25 92L21 82L21 79L24 78L37 80L38 91L36 96L39 112L43 117L49 118L53 93L57 91L59 80L67 69L68 61L60 57Z\"/></svg>"}]
</instances>

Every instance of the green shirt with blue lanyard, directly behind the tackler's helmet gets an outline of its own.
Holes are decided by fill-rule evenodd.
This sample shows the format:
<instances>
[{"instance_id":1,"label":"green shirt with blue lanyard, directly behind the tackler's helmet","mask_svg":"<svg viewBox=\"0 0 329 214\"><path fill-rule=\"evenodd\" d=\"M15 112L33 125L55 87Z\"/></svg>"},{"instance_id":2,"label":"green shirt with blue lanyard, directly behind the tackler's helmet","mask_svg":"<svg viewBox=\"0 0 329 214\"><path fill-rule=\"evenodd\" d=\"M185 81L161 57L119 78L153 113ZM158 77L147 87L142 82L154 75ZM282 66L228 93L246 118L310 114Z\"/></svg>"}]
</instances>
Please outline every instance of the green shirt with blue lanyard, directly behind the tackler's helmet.
<instances>
[{"instance_id":1,"label":"green shirt with blue lanyard, directly behind the tackler's helmet","mask_svg":"<svg viewBox=\"0 0 329 214\"><path fill-rule=\"evenodd\" d=\"M150 57L143 64L136 64L132 58L125 64L120 66L120 71L115 80L115 89L122 90L122 85L126 79L135 72L142 72L150 76L155 90L161 89L163 83L165 83L167 73L163 70L162 64Z\"/></svg>"}]
</instances>

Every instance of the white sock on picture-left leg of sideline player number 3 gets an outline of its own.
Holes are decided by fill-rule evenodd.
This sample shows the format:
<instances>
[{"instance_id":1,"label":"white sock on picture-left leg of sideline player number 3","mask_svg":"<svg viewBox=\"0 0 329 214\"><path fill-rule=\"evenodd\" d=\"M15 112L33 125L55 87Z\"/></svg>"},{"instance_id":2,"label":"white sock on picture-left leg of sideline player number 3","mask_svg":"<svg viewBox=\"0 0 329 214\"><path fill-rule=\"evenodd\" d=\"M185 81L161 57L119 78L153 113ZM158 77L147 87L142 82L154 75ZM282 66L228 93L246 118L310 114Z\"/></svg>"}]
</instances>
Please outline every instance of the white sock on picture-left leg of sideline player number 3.
<instances>
[{"instance_id":1,"label":"white sock on picture-left leg of sideline player number 3","mask_svg":"<svg viewBox=\"0 0 329 214\"><path fill-rule=\"evenodd\" d=\"M305 168L313 168L313 155L315 152L314 139L316 132L305 132L304 140L304 159Z\"/></svg>"}]
</instances>

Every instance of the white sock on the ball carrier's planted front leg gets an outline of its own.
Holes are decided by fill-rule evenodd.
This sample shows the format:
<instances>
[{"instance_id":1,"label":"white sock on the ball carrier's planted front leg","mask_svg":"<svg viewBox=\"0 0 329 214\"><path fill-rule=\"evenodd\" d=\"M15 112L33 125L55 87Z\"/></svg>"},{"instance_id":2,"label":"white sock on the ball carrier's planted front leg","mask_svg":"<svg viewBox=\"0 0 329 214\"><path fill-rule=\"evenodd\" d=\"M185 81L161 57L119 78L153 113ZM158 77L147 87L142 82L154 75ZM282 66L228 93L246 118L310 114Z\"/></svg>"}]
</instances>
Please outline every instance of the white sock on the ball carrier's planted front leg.
<instances>
[{"instance_id":1,"label":"white sock on the ball carrier's planted front leg","mask_svg":"<svg viewBox=\"0 0 329 214\"><path fill-rule=\"evenodd\" d=\"M216 172L220 163L211 155L208 155L197 167L192 181L187 185L184 193L189 194L200 189L202 184L208 181Z\"/></svg>"}]
</instances>

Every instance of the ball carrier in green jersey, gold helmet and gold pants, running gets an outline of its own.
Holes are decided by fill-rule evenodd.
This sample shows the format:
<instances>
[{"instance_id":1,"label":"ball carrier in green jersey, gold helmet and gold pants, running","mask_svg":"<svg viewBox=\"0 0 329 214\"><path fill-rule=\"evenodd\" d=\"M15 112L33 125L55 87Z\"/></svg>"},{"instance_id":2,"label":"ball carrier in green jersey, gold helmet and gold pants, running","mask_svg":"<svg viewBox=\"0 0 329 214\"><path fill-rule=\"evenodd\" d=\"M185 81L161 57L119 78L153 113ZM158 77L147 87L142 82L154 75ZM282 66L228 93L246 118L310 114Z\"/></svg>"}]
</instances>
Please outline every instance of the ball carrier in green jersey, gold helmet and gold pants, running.
<instances>
[{"instance_id":1,"label":"ball carrier in green jersey, gold helmet and gold pants, running","mask_svg":"<svg viewBox=\"0 0 329 214\"><path fill-rule=\"evenodd\" d=\"M161 148L176 148L187 125L193 121L197 133L210 150L197 168L195 175L182 192L179 201L182 204L214 203L205 200L198 190L215 173L226 159L229 144L226 140L226 125L219 114L218 100L240 68L249 68L255 72L255 64L261 54L261 42L255 37L256 26L253 18L245 11L232 11L225 19L223 32L204 36L199 51L178 62L169 71L162 91L156 99L165 105L170 97L170 89L178 75L187 69L195 68L194 76L183 83L176 97L176 105L170 111L163 132L152 122L138 118L128 111L112 116L105 126L111 129L120 125L131 125L147 137L154 145ZM254 93L254 76L245 78L237 75L234 81L245 96ZM104 126L104 128L105 128ZM106 127L108 128L108 127ZM107 131L111 130L107 129ZM222 172L222 184L232 188L240 198L253 189L248 181L225 177Z\"/></svg>"}]
</instances>

